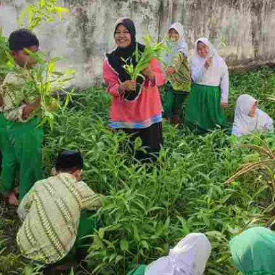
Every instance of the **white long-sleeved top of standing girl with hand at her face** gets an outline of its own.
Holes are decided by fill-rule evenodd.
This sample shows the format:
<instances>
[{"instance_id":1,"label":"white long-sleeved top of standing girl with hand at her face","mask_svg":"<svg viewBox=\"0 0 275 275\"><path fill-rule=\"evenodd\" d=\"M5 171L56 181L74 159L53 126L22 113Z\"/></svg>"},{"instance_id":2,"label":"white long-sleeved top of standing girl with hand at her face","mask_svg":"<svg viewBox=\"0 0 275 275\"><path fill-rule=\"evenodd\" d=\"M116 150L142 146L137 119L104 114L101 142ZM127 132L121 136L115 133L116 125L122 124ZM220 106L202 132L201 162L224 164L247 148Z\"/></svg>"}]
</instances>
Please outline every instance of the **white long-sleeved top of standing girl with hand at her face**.
<instances>
[{"instance_id":1,"label":"white long-sleeved top of standing girl with hand at her face","mask_svg":"<svg viewBox=\"0 0 275 275\"><path fill-rule=\"evenodd\" d=\"M229 75L228 67L223 58L214 56L212 66L204 67L204 63L198 65L191 61L192 80L200 85L221 87L221 102L228 102Z\"/></svg>"}]
</instances>

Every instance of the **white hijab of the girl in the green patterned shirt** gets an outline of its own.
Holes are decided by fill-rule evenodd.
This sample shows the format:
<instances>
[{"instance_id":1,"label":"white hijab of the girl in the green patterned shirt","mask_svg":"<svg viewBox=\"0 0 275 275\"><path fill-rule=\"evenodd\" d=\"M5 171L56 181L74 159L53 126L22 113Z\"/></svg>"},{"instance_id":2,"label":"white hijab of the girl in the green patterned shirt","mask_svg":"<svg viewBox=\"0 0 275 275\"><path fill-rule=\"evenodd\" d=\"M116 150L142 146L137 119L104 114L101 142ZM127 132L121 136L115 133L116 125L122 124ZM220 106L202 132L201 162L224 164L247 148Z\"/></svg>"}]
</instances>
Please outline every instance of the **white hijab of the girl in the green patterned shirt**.
<instances>
[{"instance_id":1,"label":"white hijab of the girl in the green patterned shirt","mask_svg":"<svg viewBox=\"0 0 275 275\"><path fill-rule=\"evenodd\" d=\"M173 58L179 53L183 52L185 56L188 56L188 46L186 44L185 38L184 38L184 26L181 25L181 23L173 23L169 30L176 30L179 34L179 40L176 42L168 41L168 47L170 52L168 52L164 56L164 63L166 63L168 66L173 65Z\"/></svg>"}]
</instances>

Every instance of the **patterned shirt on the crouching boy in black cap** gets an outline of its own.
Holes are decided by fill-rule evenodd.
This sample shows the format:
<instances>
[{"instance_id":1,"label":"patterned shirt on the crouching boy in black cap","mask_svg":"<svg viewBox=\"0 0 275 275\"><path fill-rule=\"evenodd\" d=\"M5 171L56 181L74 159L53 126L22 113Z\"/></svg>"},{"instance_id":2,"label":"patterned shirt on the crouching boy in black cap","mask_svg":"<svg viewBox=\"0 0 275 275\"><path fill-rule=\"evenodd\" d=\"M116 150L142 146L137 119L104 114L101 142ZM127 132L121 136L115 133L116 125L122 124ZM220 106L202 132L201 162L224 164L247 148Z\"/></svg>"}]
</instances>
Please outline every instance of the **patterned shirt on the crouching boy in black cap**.
<instances>
[{"instance_id":1,"label":"patterned shirt on the crouching boy in black cap","mask_svg":"<svg viewBox=\"0 0 275 275\"><path fill-rule=\"evenodd\" d=\"M23 220L17 233L21 252L47 264L60 261L76 241L81 210L100 206L100 197L68 173L37 181L18 209Z\"/></svg>"}]
</instances>

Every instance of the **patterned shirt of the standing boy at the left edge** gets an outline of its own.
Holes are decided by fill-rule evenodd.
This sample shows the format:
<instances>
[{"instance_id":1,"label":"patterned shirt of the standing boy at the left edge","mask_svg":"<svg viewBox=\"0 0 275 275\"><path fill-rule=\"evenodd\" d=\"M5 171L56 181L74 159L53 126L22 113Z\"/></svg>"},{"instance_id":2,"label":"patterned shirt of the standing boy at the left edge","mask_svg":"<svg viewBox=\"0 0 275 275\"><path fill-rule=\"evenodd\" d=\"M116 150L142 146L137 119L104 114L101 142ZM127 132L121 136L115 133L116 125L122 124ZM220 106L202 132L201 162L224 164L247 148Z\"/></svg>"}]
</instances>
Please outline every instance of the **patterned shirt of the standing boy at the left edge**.
<instances>
[{"instance_id":1,"label":"patterned shirt of the standing boy at the left edge","mask_svg":"<svg viewBox=\"0 0 275 275\"><path fill-rule=\"evenodd\" d=\"M1 111L7 120L28 122L23 119L23 109L34 98L25 96L25 79L14 73L7 74L0 87Z\"/></svg>"}]
</instances>

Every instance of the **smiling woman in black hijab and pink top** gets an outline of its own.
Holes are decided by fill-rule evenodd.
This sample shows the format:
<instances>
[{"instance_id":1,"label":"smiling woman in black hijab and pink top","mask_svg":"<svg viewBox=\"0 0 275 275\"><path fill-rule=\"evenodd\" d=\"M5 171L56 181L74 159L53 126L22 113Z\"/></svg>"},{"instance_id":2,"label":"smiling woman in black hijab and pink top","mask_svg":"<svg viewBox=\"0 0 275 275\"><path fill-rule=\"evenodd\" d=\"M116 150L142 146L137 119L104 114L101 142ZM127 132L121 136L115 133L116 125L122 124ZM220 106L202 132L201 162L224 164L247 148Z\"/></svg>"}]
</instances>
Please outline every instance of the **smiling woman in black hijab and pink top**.
<instances>
[{"instance_id":1,"label":"smiling woman in black hijab and pink top","mask_svg":"<svg viewBox=\"0 0 275 275\"><path fill-rule=\"evenodd\" d=\"M164 75L157 59L151 58L136 80L132 80L125 65L137 67L137 54L145 46L135 40L135 25L122 18L115 23L117 48L107 54L103 64L103 78L112 96L110 123L112 129L140 137L147 153L139 151L135 157L142 161L157 159L162 146L162 107L158 86L164 85Z\"/></svg>"}]
</instances>

